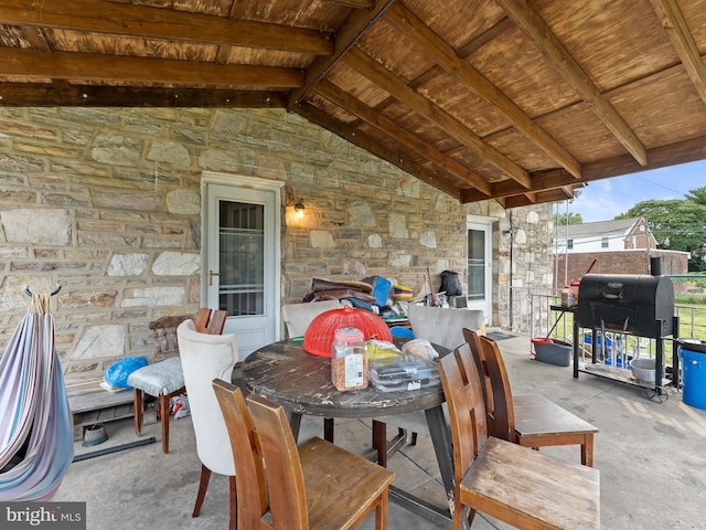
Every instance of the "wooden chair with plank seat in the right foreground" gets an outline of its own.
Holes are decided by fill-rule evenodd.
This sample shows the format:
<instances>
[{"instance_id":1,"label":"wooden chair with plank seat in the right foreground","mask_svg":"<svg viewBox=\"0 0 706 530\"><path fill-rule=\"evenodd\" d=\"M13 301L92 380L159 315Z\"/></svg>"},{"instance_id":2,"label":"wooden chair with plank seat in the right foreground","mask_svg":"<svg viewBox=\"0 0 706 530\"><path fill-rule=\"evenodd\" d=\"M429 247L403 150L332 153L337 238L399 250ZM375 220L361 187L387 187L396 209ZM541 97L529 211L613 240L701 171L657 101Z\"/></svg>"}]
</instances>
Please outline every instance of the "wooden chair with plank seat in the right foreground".
<instances>
[{"instance_id":1,"label":"wooden chair with plank seat in the right foreground","mask_svg":"<svg viewBox=\"0 0 706 530\"><path fill-rule=\"evenodd\" d=\"M468 343L439 361L453 441L453 522L477 511L523 529L600 528L597 469L489 437L481 380Z\"/></svg>"}]
</instances>

